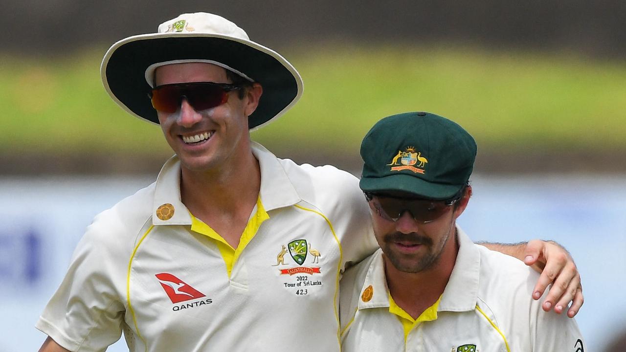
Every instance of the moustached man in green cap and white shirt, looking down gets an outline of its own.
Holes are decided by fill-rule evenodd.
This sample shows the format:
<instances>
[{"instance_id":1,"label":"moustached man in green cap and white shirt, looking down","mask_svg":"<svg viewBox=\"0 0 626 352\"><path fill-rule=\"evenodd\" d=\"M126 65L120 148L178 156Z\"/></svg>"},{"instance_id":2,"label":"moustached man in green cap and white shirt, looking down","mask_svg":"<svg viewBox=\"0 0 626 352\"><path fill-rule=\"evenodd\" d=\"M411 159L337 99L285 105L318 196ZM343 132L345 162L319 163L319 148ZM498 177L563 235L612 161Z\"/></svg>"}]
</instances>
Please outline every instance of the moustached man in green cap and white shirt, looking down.
<instances>
[{"instance_id":1,"label":"moustached man in green cap and white shirt, looking down","mask_svg":"<svg viewBox=\"0 0 626 352\"><path fill-rule=\"evenodd\" d=\"M381 249L342 276L342 352L582 350L576 322L531 296L539 274L456 224L472 192L469 133L431 113L393 115L367 133L361 156Z\"/></svg>"}]
</instances>

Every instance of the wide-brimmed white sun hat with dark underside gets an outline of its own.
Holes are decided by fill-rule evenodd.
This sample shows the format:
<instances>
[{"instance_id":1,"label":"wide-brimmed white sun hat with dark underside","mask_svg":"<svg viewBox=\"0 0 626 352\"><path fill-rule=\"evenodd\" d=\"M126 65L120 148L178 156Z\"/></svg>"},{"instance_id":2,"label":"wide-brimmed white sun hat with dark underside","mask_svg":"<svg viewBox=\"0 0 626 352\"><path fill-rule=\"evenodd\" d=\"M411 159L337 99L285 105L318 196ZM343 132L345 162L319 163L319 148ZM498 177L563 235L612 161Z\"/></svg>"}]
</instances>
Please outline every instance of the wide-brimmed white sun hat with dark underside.
<instances>
[{"instance_id":1,"label":"wide-brimmed white sun hat with dark underside","mask_svg":"<svg viewBox=\"0 0 626 352\"><path fill-rule=\"evenodd\" d=\"M107 93L124 110L158 123L148 93L154 71L172 63L205 62L260 83L263 95L249 116L259 128L289 110L302 95L298 71L279 53L250 41L244 29L210 13L181 14L158 26L158 33L130 36L113 44L100 73Z\"/></svg>"}]
</instances>

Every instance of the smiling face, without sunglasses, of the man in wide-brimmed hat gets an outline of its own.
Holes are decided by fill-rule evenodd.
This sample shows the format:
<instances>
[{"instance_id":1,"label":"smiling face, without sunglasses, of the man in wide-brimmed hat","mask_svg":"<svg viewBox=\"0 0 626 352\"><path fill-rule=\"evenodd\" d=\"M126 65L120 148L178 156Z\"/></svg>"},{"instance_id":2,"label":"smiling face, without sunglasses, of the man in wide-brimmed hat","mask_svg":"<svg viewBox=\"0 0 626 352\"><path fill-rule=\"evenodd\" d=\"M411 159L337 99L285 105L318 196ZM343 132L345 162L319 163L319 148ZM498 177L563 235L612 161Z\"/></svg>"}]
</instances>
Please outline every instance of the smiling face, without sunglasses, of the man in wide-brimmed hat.
<instances>
[{"instance_id":1,"label":"smiling face, without sunglasses, of the man in wide-brimmed hat","mask_svg":"<svg viewBox=\"0 0 626 352\"><path fill-rule=\"evenodd\" d=\"M156 69L155 86L190 82L231 83L224 68L210 63L178 63ZM239 98L239 90L227 94L225 103L206 110L197 111L183 99L173 113L157 111L163 135L183 169L216 170L249 153L248 116L258 104L260 85L247 89L244 98Z\"/></svg>"}]
</instances>

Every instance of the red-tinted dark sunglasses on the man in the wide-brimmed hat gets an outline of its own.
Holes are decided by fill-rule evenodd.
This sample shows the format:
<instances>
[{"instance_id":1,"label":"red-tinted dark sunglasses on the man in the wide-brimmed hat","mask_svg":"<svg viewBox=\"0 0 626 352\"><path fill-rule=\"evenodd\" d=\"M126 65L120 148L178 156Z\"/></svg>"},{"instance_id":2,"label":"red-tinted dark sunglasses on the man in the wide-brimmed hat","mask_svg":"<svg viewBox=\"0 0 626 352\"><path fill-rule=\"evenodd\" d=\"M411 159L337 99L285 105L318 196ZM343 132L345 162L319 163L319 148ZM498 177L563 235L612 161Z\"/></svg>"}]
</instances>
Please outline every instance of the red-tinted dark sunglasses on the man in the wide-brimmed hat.
<instances>
[{"instance_id":1,"label":"red-tinted dark sunglasses on the man in the wide-brimmed hat","mask_svg":"<svg viewBox=\"0 0 626 352\"><path fill-rule=\"evenodd\" d=\"M215 108L228 101L228 92L241 89L242 85L213 82L172 83L157 86L148 93L155 110L175 113L183 103L183 98L196 111Z\"/></svg>"}]
</instances>

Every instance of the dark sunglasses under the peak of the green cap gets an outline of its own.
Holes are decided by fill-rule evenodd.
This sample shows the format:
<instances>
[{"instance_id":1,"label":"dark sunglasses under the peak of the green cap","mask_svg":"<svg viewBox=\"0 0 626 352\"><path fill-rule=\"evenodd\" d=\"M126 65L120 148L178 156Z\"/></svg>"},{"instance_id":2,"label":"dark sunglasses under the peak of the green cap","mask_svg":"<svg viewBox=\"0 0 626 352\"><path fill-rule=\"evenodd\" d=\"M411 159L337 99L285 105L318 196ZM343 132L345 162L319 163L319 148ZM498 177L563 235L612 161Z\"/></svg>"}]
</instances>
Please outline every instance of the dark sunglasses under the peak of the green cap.
<instances>
[{"instance_id":1,"label":"dark sunglasses under the peak of the green cap","mask_svg":"<svg viewBox=\"0 0 626 352\"><path fill-rule=\"evenodd\" d=\"M396 222L402 217L404 212L409 212L413 219L423 224L439 219L439 217L448 212L451 205L461 199L460 195L455 195L448 200L431 200L396 198L367 192L365 197L372 210L382 219Z\"/></svg>"}]
</instances>

